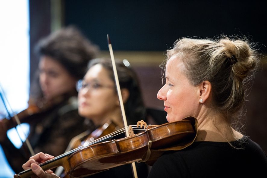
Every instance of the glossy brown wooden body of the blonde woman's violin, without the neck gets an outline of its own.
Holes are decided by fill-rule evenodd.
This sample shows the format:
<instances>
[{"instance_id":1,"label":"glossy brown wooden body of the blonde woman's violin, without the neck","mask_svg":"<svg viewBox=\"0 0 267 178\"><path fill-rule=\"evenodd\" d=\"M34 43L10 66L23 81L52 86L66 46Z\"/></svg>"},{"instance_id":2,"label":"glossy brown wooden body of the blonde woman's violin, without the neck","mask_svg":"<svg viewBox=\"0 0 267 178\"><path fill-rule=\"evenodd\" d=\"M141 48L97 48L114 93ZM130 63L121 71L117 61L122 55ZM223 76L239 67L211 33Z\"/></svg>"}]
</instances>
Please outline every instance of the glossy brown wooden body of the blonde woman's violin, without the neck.
<instances>
[{"instance_id":1,"label":"glossy brown wooden body of the blonde woman's violin, without the neck","mask_svg":"<svg viewBox=\"0 0 267 178\"><path fill-rule=\"evenodd\" d=\"M152 141L152 150L164 149L195 137L190 120L166 123L146 132L83 148L69 157L71 177L90 175L112 167L142 161Z\"/></svg>"}]
</instances>

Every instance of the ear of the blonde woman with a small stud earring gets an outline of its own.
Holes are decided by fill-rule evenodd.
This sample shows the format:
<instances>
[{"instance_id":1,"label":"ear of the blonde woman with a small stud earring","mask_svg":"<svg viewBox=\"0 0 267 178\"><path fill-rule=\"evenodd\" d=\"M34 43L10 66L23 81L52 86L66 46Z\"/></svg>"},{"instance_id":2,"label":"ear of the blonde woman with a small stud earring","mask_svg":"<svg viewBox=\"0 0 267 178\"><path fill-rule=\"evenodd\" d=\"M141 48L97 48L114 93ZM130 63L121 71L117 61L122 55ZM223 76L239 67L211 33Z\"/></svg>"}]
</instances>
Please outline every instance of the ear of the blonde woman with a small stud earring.
<instances>
[{"instance_id":1,"label":"ear of the blonde woman with a small stud earring","mask_svg":"<svg viewBox=\"0 0 267 178\"><path fill-rule=\"evenodd\" d=\"M199 84L198 95L200 103L204 103L211 97L211 89L211 83L207 80Z\"/></svg>"}]
</instances>

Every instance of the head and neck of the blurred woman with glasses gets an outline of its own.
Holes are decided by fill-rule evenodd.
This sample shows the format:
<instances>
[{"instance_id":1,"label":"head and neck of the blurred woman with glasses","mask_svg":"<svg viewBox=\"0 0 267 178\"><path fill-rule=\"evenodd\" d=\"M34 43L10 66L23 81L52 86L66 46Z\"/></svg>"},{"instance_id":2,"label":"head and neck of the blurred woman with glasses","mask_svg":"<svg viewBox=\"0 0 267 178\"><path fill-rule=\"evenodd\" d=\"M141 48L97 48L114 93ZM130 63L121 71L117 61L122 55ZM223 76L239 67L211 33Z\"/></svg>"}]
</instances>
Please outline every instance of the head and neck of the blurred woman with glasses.
<instances>
[{"instance_id":1,"label":"head and neck of the blurred woman with glasses","mask_svg":"<svg viewBox=\"0 0 267 178\"><path fill-rule=\"evenodd\" d=\"M145 119L137 76L123 62L116 61L116 67L127 122L136 124L140 119ZM93 59L83 80L77 84L79 114L90 118L96 126L112 120L120 128L123 127L113 75L110 59Z\"/></svg>"}]
</instances>

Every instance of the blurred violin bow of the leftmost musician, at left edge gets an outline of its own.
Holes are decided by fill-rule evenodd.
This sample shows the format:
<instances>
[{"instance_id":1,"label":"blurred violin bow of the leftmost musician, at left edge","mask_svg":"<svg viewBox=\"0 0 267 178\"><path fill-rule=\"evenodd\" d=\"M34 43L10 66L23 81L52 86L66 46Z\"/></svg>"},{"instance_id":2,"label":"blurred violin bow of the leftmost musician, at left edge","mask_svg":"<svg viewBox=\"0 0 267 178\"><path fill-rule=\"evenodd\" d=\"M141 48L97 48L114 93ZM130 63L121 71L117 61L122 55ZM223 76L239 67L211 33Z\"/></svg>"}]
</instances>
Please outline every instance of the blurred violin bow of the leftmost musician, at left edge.
<instances>
[{"instance_id":1,"label":"blurred violin bow of the leftmost musician, at left edge","mask_svg":"<svg viewBox=\"0 0 267 178\"><path fill-rule=\"evenodd\" d=\"M1 90L2 90L2 92L3 92L3 94L0 92L0 97L1 97L1 99L2 99L2 101L3 101L3 105L5 106L5 109L6 109L6 111L7 111L8 117L9 117L9 119L11 119L11 114L9 113L8 108L6 107L6 104L5 104L5 99L6 99L6 102L7 102L7 103L8 103L8 100L7 100L6 97L5 97L5 99L4 99L4 97L3 97L3 96L5 96L5 95L4 95L4 90L2 89L2 86L1 86L1 85L0 85L0 88L1 88ZM9 108L11 109L11 106L10 106L9 103L8 103L8 105L9 105ZM15 121L16 121L17 125L20 126L21 123L20 123L19 118L17 117L17 114L15 114L14 111L12 111L12 109L11 109L11 112L12 112L13 115L14 115L14 118L15 118ZM18 131L17 131L17 127L15 127L15 130L16 130L16 132L17 132L17 134L18 134L18 136L19 136L19 138L20 138L20 141L22 142L22 145L23 145L24 142L23 142L23 140L22 140L20 134L19 134ZM26 145L27 145L27 147L28 147L28 149L29 149L29 151L30 151L30 154L31 154L32 156L35 155L35 154L34 154L34 151L33 151L33 148L32 148L32 146L30 145L30 142L29 142L29 140L28 140L26 134L23 132L23 130L21 130L21 131L22 131L22 133L24 134L24 136L25 136L25 138L26 138L25 143L26 143ZM25 151L26 151L26 150L25 150ZM27 153L26 153L26 154L27 154Z\"/></svg>"}]
</instances>

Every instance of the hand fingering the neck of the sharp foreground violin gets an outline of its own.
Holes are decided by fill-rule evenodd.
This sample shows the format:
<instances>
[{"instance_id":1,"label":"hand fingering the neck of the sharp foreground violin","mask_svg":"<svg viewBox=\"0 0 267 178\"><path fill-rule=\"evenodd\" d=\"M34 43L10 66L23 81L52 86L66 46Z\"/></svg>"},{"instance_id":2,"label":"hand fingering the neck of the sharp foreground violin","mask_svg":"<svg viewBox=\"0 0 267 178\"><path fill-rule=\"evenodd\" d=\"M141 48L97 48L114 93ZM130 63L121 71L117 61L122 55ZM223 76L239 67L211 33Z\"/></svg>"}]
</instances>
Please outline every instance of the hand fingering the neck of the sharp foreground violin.
<instances>
[{"instance_id":1,"label":"hand fingering the neck of the sharp foreground violin","mask_svg":"<svg viewBox=\"0 0 267 178\"><path fill-rule=\"evenodd\" d=\"M38 165L44 161L47 161L49 159L52 159L54 158L54 156L51 156L49 154L46 154L46 153L37 153L36 155L30 157L29 161L27 161L25 164L22 165L22 168L24 170L27 170L27 169L32 169L33 173L36 174L35 177L40 177L40 178L48 178L48 177L57 177L52 170L42 170L42 168ZM35 177L32 177L32 178L35 178Z\"/></svg>"}]
</instances>

